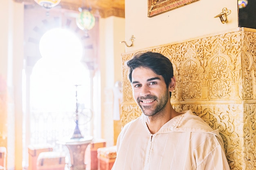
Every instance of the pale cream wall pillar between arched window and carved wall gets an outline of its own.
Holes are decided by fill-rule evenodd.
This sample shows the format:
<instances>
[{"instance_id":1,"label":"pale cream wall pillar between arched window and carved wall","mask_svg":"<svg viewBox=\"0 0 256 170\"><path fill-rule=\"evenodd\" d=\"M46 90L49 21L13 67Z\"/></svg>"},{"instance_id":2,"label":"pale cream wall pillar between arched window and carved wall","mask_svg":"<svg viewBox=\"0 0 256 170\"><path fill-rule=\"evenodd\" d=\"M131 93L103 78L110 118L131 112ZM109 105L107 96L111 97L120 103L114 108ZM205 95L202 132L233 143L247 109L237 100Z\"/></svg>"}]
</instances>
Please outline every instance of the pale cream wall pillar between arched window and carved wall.
<instances>
[{"instance_id":1,"label":"pale cream wall pillar between arched window and carved wall","mask_svg":"<svg viewBox=\"0 0 256 170\"><path fill-rule=\"evenodd\" d=\"M100 66L101 66L101 137L107 146L114 145L113 87L122 79L121 53L125 52L124 18L101 18L100 28Z\"/></svg>"}]
</instances>

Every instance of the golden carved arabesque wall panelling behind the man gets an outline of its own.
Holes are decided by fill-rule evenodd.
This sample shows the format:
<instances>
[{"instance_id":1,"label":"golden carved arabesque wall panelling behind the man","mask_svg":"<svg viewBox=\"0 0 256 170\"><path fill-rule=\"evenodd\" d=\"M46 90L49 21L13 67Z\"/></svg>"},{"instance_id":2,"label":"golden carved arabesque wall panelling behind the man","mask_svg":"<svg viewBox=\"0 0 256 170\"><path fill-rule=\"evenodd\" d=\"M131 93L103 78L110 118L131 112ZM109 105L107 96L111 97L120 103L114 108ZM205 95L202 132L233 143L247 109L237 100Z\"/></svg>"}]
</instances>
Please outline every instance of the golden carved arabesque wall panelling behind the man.
<instances>
[{"instance_id":1,"label":"golden carved arabesque wall panelling behind the man","mask_svg":"<svg viewBox=\"0 0 256 170\"><path fill-rule=\"evenodd\" d=\"M256 30L237 28L218 35L141 51L159 52L173 63L175 110L191 109L219 129L231 170L256 169ZM124 126L141 115L122 55Z\"/></svg>"}]
</instances>

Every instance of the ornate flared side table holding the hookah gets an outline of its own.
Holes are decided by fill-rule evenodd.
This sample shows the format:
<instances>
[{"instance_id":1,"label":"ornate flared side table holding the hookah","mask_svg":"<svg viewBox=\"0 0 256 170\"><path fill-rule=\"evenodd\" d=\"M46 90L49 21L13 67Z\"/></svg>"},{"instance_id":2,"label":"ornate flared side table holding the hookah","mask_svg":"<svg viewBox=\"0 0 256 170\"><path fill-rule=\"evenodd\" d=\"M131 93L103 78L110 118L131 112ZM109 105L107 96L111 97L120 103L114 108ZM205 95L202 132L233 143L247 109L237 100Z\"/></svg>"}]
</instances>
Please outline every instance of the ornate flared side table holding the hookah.
<instances>
[{"instance_id":1,"label":"ornate flared side table holding the hookah","mask_svg":"<svg viewBox=\"0 0 256 170\"><path fill-rule=\"evenodd\" d=\"M83 137L79 139L68 139L66 141L57 142L58 144L67 146L70 152L71 170L85 170L85 150L91 141L92 137Z\"/></svg>"}]
</instances>

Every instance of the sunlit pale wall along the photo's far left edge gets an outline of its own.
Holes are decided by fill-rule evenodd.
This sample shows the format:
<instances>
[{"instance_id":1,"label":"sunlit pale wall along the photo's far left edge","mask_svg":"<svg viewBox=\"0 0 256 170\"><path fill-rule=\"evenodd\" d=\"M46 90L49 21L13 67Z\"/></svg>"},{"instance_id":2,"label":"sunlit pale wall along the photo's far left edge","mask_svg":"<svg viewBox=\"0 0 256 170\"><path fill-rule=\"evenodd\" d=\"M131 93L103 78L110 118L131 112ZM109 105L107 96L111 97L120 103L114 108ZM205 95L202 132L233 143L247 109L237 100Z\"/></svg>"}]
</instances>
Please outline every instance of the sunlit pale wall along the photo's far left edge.
<instances>
[{"instance_id":1,"label":"sunlit pale wall along the photo's far left edge","mask_svg":"<svg viewBox=\"0 0 256 170\"><path fill-rule=\"evenodd\" d=\"M9 170L22 170L23 9L12 0L0 5L0 145Z\"/></svg>"}]
</instances>

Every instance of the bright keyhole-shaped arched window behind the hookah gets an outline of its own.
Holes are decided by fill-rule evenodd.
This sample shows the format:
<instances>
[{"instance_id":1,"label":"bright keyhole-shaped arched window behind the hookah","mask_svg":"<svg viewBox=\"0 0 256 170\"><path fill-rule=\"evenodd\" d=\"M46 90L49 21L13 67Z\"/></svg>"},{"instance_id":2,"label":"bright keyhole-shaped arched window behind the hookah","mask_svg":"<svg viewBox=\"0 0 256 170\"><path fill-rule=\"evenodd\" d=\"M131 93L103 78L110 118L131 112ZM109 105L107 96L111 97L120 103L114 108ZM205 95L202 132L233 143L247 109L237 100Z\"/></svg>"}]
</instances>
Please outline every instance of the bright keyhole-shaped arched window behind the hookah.
<instances>
[{"instance_id":1,"label":"bright keyhole-shaped arched window behind the hookah","mask_svg":"<svg viewBox=\"0 0 256 170\"><path fill-rule=\"evenodd\" d=\"M76 35L65 29L47 31L40 40L42 58L30 77L30 144L48 143L72 136L76 102L79 129L92 135L90 74L80 60L83 48Z\"/></svg>"}]
</instances>

